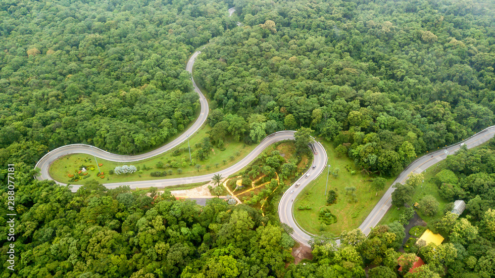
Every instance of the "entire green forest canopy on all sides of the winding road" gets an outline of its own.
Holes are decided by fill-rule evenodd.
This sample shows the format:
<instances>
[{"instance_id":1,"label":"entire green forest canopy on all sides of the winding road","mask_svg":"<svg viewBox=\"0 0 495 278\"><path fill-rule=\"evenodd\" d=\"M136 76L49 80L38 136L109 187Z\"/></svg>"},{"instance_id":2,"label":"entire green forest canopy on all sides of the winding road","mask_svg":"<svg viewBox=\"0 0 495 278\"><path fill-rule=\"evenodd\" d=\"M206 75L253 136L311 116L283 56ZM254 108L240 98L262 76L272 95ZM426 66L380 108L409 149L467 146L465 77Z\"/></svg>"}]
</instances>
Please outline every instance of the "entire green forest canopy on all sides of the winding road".
<instances>
[{"instance_id":1,"label":"entire green forest canopy on all sides of the winding road","mask_svg":"<svg viewBox=\"0 0 495 278\"><path fill-rule=\"evenodd\" d=\"M345 231L341 246L313 238L313 259L298 265L275 205L262 215L94 182L70 193L32 167L67 143L132 153L174 137L198 108L185 62L210 41L196 74L212 139L306 127L363 170L394 175L493 124L494 11L488 1L0 0L0 161L16 165L17 214L16 271L1 238L0 276L364 278L373 265L370 278L395 278L399 256L418 254L426 265L405 278L494 277L493 140L436 177L442 197L467 201L461 217L429 224L441 246L401 254L404 227L392 222L368 237ZM7 234L6 205L0 214Z\"/></svg>"}]
</instances>

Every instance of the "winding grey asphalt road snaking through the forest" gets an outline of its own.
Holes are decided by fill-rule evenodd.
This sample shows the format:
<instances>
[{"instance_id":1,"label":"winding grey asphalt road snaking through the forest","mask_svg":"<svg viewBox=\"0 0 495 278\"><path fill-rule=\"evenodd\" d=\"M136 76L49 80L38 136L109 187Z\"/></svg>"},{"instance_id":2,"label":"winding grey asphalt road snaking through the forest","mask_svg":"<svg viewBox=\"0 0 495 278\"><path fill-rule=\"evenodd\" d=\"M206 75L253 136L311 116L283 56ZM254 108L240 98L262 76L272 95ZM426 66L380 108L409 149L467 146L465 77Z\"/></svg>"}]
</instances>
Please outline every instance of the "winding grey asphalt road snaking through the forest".
<instances>
[{"instance_id":1,"label":"winding grey asphalt road snaking through the forest","mask_svg":"<svg viewBox=\"0 0 495 278\"><path fill-rule=\"evenodd\" d=\"M232 13L235 11L235 8L229 9L229 16L232 15ZM196 57L200 51L195 52L190 60L188 61L186 65L186 70L192 73L193 65L195 62ZM144 154L140 155L133 155L133 156L127 156L127 155L118 155L118 154L112 154L107 151L104 151L102 149L99 149L97 147L91 146L91 145L86 145L86 144L72 144L72 145L66 145L62 146L59 148L56 148L49 153L47 153L45 156L43 156L38 163L36 163L36 167L41 169L40 176L37 177L40 180L46 180L52 178L49 175L49 165L55 161L57 158L67 155L67 154L73 154L73 153L85 153L89 155L95 155L99 158L103 158L106 160L110 161L116 161L116 162L133 162L133 161L138 161L138 160L143 160L146 158L150 158L152 156L161 154L163 152L166 152L175 146L179 145L182 143L184 140L187 139L187 136L190 136L194 134L198 129L204 124L206 121L206 117L208 116L209 108L208 108L208 102L206 101L206 98L204 95L199 91L198 86L193 81L193 86L194 90L198 93L199 95L199 101L201 104L201 111L199 113L199 117L196 120L196 122L189 128L185 133L174 139L172 142L159 147L155 150L149 151ZM188 178L178 178L178 179L162 179L162 180L152 180L152 181L138 181L138 182L127 182L127 183L111 183L111 184L104 184L105 187L107 188L115 188L120 185L130 185L131 188L143 188L143 187L150 187L150 186L155 186L155 187L166 187L166 186L171 186L171 185L181 185L181 184L192 184L192 183L200 183L200 182L208 182L212 180L213 175L215 174L220 174L224 177L235 174L239 172L241 169L246 167L249 162L251 162L256 156L258 156L267 146L274 142L278 142L281 140L286 140L286 139L294 139L294 131L280 131L276 132L274 134L271 134L267 136L265 139L263 139L254 150L252 150L246 157L244 157L241 161L236 163L235 165L224 169L222 171L213 173L213 174L207 174L207 175L202 175L202 176L196 176L196 177L188 177ZM489 127L474 136L472 136L469 139L464 140L463 142L467 145L468 148L472 148L475 146L480 145L483 142L488 141L492 137L494 137L495 134L495 126ZM313 165L315 165L315 169L310 168L305 174L309 174L308 178L305 178L304 176L301 177L294 185L291 185L291 187L283 194L282 199L280 200L279 203L279 217L281 222L288 224L294 229L294 233L292 236L299 242L301 242L304 245L308 245L307 241L311 238L311 234L308 232L303 231L298 225L297 222L294 219L293 215L293 205L294 205L294 200L297 198L297 194L299 194L302 189L308 185L312 180L314 180L318 175L322 173L322 171L325 169L325 166L327 165L327 156L326 156L326 151L323 147L323 145L319 142L315 142L314 144L315 149L317 150L318 154L314 155L314 162ZM439 151L433 152L432 154L425 155L420 157L419 159L415 160L413 163L411 163L396 179L395 183L403 183L405 179L407 178L407 175L409 173L420 173L424 171L426 168L434 165L435 163L443 160L446 158L448 154L454 153L456 150L459 149L459 143L449 146L445 149L441 149ZM445 151L448 151L448 153L445 153ZM433 157L432 157L433 155ZM330 162L331 163L331 162ZM300 183L298 187L295 187L297 183ZM62 183L58 183L59 185L65 185ZM72 185L72 192L77 191L77 189L81 187L81 185ZM391 194L394 191L395 188L392 186L385 192L384 196L380 199L380 201L377 203L375 208L371 211L371 213L368 215L368 217L364 220L364 222L359 226L359 228L367 235L370 232L370 227L375 227L378 222L383 218L385 213L388 211L388 209L391 206ZM291 192L294 190L293 192Z\"/></svg>"}]
</instances>

